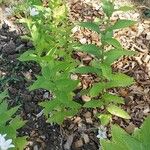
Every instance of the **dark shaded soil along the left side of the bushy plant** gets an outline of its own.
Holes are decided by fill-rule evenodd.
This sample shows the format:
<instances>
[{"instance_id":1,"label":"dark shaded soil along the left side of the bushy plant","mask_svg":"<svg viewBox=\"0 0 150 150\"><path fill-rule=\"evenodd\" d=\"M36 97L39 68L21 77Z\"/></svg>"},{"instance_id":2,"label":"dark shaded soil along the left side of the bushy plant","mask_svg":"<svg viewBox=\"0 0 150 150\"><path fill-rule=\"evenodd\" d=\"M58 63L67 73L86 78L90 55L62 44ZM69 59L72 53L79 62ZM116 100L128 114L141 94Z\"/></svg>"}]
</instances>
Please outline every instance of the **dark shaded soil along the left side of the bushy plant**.
<instances>
[{"instance_id":1,"label":"dark shaded soil along the left side of the bushy plant","mask_svg":"<svg viewBox=\"0 0 150 150\"><path fill-rule=\"evenodd\" d=\"M33 48L29 41L22 40L16 31L9 31L3 24L0 29L0 91L8 89L9 106L20 105L19 114L26 125L19 130L19 135L29 136L28 150L61 150L60 127L46 123L43 115L38 116L41 108L38 103L43 99L44 90L29 92L27 87L40 72L34 62L17 60L24 51Z\"/></svg>"}]
</instances>

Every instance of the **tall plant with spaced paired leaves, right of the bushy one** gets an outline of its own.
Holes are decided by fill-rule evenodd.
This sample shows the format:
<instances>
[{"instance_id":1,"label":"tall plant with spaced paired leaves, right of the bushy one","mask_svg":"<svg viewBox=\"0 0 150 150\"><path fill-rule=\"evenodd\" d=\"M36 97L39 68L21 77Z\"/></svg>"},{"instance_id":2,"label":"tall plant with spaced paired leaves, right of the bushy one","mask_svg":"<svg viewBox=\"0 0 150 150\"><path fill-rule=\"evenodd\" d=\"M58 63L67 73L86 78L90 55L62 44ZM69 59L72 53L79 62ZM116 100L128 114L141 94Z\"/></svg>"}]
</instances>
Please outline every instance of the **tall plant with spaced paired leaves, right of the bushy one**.
<instances>
[{"instance_id":1,"label":"tall plant with spaced paired leaves, right of the bushy one","mask_svg":"<svg viewBox=\"0 0 150 150\"><path fill-rule=\"evenodd\" d=\"M86 108L105 107L105 113L98 115L101 124L106 125L111 119L111 115L116 115L121 118L130 119L130 116L119 105L124 104L122 97L119 97L108 90L111 88L119 88L130 86L134 83L133 78L112 71L111 65L120 57L126 55L131 56L136 54L134 51L124 49L121 44L113 37L114 30L123 29L134 25L136 22L132 20L117 20L111 22L111 16L114 11L127 11L131 7L124 6L119 9L114 8L113 1L102 0L102 8L105 13L103 21L99 22L81 22L81 27L87 28L96 32L100 37L98 45L84 44L74 46L76 51L88 53L93 57L90 66L82 66L73 70L74 73L94 73L97 75L98 81L86 93L91 100L84 104ZM104 26L102 29L100 27ZM108 46L111 46L108 49Z\"/></svg>"}]
</instances>

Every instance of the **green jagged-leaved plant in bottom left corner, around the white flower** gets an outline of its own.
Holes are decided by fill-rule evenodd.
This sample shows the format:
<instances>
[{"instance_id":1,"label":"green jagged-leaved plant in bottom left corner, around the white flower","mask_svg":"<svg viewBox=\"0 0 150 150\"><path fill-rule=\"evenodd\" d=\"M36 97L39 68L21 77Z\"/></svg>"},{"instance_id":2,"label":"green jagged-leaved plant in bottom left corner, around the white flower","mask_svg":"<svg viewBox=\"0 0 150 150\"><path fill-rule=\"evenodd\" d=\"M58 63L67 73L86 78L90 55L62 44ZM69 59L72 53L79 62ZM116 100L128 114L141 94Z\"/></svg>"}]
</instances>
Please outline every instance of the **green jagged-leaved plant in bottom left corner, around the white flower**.
<instances>
[{"instance_id":1,"label":"green jagged-leaved plant in bottom left corner, around the white flower","mask_svg":"<svg viewBox=\"0 0 150 150\"><path fill-rule=\"evenodd\" d=\"M8 109L6 97L8 97L7 91L0 93L0 135L6 135L7 138L12 139L14 145L12 149L23 150L26 145L26 137L19 137L17 130L24 126L25 121L15 115L19 106ZM1 144L3 144L2 141Z\"/></svg>"}]
</instances>

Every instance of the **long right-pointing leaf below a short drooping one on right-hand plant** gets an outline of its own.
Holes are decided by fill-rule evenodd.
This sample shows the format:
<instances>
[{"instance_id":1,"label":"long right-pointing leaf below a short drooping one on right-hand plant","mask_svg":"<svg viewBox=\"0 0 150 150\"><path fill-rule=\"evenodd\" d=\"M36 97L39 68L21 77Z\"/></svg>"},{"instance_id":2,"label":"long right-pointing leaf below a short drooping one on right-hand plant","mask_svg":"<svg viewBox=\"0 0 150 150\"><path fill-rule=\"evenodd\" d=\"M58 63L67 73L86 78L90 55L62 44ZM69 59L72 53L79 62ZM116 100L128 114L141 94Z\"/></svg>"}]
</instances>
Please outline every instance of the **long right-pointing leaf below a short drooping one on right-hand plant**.
<instances>
[{"instance_id":1,"label":"long right-pointing leaf below a short drooping one on right-hand plant","mask_svg":"<svg viewBox=\"0 0 150 150\"><path fill-rule=\"evenodd\" d=\"M122 50L122 49L112 49L104 53L106 57L105 63L107 63L108 65L111 65L112 63L114 63L114 61L118 60L124 55L132 56L134 54L137 54L137 53L134 51L128 51L128 50Z\"/></svg>"}]
</instances>

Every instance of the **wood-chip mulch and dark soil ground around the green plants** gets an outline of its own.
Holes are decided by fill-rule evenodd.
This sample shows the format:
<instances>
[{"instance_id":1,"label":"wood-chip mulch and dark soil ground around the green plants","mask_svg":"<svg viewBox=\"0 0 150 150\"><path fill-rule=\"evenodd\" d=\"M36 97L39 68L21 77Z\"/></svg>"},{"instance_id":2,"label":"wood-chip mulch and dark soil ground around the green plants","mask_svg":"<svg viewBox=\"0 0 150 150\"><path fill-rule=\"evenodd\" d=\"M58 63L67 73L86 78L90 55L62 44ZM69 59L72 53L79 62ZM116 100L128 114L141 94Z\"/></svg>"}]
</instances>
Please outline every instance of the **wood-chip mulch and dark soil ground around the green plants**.
<instances>
[{"instance_id":1,"label":"wood-chip mulch and dark soil ground around the green plants","mask_svg":"<svg viewBox=\"0 0 150 150\"><path fill-rule=\"evenodd\" d=\"M117 5L123 3L127 2L117 1ZM94 20L95 17L103 16L96 0L70 0L69 7L71 22ZM113 122L129 133L141 125L144 117L150 115L150 18L145 15L147 7L138 10L140 12L135 10L128 13L115 13L112 17L112 21L118 18L138 21L132 28L115 32L115 37L122 45L137 51L138 55L122 58L112 66L114 71L126 73L136 81L129 88L113 89L113 92L125 98L126 105L123 107L132 117L131 120L114 117ZM22 63L17 60L21 53L32 48L32 43L22 40L20 35L22 33L10 31L6 24L0 29L0 90L6 88L9 90L10 106L21 104L18 113L28 122L19 134L29 136L26 150L98 150L99 141L96 135L99 122L95 114L99 110L82 110L74 118L66 120L62 126L46 123L38 103L51 95L44 90L34 92L27 90L35 75L40 72L40 67L33 62ZM97 43L99 40L95 33L80 28L73 31L73 36L81 43ZM76 55L85 64L91 60L91 57L86 54ZM90 75L79 78L82 79L83 88L93 82L93 77ZM83 101L87 99L88 97L82 97Z\"/></svg>"}]
</instances>

